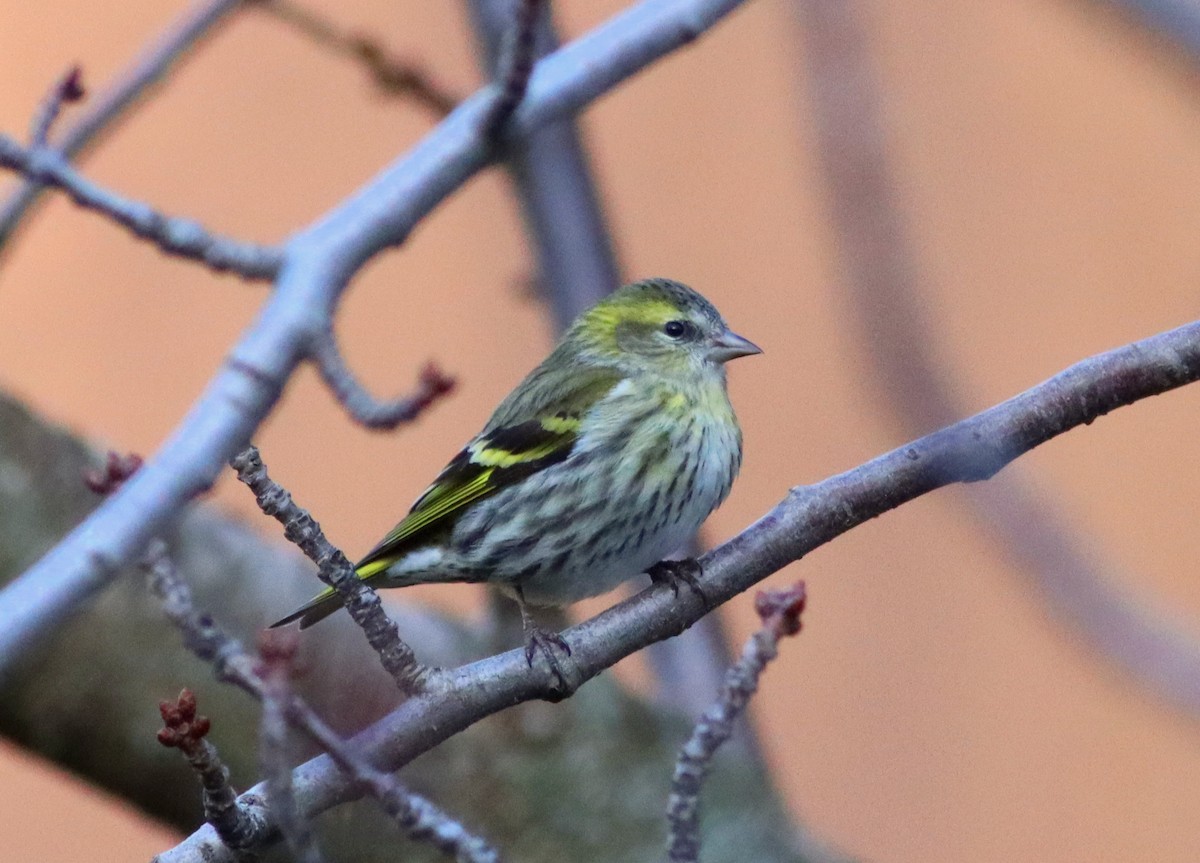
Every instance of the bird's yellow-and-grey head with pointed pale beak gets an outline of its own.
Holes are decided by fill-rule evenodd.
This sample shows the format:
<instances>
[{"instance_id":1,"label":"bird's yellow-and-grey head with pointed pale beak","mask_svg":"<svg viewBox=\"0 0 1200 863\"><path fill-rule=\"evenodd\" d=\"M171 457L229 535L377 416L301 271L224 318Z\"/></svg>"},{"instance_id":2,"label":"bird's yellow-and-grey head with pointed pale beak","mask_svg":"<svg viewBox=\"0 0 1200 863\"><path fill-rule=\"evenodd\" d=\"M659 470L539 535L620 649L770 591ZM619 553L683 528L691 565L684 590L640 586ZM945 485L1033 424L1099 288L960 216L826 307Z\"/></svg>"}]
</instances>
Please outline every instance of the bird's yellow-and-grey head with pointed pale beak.
<instances>
[{"instance_id":1,"label":"bird's yellow-and-grey head with pointed pale beak","mask_svg":"<svg viewBox=\"0 0 1200 863\"><path fill-rule=\"evenodd\" d=\"M564 341L594 361L667 374L713 372L762 353L733 332L712 302L667 278L620 288L583 312Z\"/></svg>"}]
</instances>

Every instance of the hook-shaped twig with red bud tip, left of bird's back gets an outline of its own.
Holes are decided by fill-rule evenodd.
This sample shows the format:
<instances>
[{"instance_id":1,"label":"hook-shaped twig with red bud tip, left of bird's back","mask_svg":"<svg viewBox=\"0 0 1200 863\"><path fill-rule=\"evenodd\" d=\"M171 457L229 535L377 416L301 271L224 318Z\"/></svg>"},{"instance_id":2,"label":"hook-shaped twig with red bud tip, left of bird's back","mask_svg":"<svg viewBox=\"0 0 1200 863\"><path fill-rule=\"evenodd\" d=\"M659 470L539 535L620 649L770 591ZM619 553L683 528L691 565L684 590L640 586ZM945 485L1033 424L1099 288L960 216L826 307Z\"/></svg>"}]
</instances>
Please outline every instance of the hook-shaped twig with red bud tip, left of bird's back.
<instances>
[{"instance_id":1,"label":"hook-shaped twig with red bud tip, left of bird's back","mask_svg":"<svg viewBox=\"0 0 1200 863\"><path fill-rule=\"evenodd\" d=\"M456 383L437 364L430 361L418 377L415 392L379 401L354 377L342 352L337 349L332 330L325 330L313 340L312 360L346 412L367 428L395 428L403 422L412 422L433 402L449 395Z\"/></svg>"}]
</instances>

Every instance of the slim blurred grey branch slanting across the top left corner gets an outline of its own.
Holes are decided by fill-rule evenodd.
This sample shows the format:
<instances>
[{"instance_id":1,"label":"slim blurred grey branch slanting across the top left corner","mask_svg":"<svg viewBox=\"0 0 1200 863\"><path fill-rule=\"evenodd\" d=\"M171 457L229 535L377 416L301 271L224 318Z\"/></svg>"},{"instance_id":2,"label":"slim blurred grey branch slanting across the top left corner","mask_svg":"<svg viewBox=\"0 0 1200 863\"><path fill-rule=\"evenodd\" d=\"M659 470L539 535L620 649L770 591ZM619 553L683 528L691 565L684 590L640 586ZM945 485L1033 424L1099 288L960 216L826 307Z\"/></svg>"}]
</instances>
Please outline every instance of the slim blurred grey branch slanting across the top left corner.
<instances>
[{"instance_id":1,"label":"slim blurred grey branch slanting across the top left corner","mask_svg":"<svg viewBox=\"0 0 1200 863\"><path fill-rule=\"evenodd\" d=\"M115 84L91 101L74 125L53 142L53 149L65 162L80 155L101 132L110 128L149 95L176 62L210 36L240 5L241 0L198 0L118 77ZM37 143L35 138L35 146ZM12 197L0 204L0 253L43 188L41 180L26 178Z\"/></svg>"}]
</instances>

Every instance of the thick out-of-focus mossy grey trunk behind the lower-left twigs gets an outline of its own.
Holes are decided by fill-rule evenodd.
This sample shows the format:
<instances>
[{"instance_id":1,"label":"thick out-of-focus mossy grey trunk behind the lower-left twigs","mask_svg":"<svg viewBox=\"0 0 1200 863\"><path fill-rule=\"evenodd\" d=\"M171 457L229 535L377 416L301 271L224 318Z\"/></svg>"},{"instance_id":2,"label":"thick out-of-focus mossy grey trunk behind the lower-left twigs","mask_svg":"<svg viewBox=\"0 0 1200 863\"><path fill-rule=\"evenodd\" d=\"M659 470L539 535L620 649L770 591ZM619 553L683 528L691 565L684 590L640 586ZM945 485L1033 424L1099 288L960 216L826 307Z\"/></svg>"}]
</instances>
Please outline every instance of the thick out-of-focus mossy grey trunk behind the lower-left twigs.
<instances>
[{"instance_id":1,"label":"thick out-of-focus mossy grey trunk behind the lower-left twigs","mask_svg":"<svg viewBox=\"0 0 1200 863\"><path fill-rule=\"evenodd\" d=\"M23 571L97 503L80 475L100 457L61 428L0 396L0 585ZM318 514L319 515L319 514ZM197 604L253 645L257 630L316 589L308 564L247 526L194 504L169 538ZM391 681L348 619L305 633L298 689L343 732L397 701ZM487 652L492 634L427 612L397 613L425 661ZM209 739L244 789L258 779L258 705L212 679L180 643L137 570L44 643L30 646L0 690L0 733L182 829L200 821L196 779L155 741L157 703L182 687L212 719ZM506 859L652 861L688 723L608 676L560 705L528 703L448 741L403 780L488 837ZM311 753L296 751L296 761ZM704 859L799 861L792 827L766 777L718 759L702 797ZM370 802L316 825L329 861L437 859L400 837Z\"/></svg>"}]
</instances>

